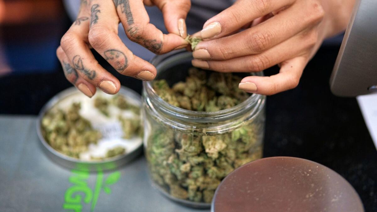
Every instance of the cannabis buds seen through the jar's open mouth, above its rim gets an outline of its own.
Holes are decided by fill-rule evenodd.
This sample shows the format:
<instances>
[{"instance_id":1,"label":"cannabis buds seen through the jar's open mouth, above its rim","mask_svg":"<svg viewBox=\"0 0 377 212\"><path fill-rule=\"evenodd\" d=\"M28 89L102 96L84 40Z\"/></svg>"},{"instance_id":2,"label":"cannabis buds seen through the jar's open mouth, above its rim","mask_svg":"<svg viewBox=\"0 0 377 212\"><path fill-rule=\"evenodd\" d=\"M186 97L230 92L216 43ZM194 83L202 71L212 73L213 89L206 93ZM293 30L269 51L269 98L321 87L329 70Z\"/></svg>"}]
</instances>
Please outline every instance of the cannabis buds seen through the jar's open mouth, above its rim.
<instances>
[{"instance_id":1,"label":"cannabis buds seen through the jar's open mouth, above its rim","mask_svg":"<svg viewBox=\"0 0 377 212\"><path fill-rule=\"evenodd\" d=\"M153 81L153 89L167 103L193 111L216 112L245 101L249 94L238 89L241 78L231 73L189 69L186 80L171 88L166 80Z\"/></svg>"}]
</instances>

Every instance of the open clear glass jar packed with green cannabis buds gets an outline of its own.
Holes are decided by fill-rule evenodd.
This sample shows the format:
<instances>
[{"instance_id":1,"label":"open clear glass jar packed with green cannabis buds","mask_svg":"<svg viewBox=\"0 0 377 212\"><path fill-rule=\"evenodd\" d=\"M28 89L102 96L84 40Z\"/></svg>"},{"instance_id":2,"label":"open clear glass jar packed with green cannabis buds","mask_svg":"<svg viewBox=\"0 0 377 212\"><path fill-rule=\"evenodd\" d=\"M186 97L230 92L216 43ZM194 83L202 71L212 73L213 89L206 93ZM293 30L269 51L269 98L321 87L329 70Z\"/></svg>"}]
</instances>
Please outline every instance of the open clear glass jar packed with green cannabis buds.
<instances>
[{"instance_id":1,"label":"open clear glass jar packed with green cannabis buds","mask_svg":"<svg viewBox=\"0 0 377 212\"><path fill-rule=\"evenodd\" d=\"M151 61L156 79L183 81L191 52L170 52ZM262 75L256 73L255 75ZM262 157L264 95L252 94L230 109L198 112L172 106L143 82L144 151L150 177L161 192L192 207L210 207L221 180Z\"/></svg>"}]
</instances>

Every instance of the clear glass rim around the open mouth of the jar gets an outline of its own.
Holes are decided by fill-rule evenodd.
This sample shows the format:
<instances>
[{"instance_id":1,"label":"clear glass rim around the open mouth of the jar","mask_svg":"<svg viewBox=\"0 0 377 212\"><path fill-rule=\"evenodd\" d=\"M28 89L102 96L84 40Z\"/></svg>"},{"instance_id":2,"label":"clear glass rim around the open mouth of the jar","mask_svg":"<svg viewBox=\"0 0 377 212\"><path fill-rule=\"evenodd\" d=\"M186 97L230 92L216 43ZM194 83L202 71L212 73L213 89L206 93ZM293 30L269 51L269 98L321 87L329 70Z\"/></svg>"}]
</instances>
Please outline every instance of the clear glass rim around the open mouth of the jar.
<instances>
[{"instance_id":1,"label":"clear glass rim around the open mouth of the jar","mask_svg":"<svg viewBox=\"0 0 377 212\"><path fill-rule=\"evenodd\" d=\"M150 63L156 66L158 72L159 69L161 69L161 65L174 61L175 57L177 57L176 60L179 60L179 58L182 59L182 57L189 58L190 55L192 55L191 52L186 52L185 50L169 52L167 54L158 55L154 57L150 61ZM259 73L257 75L263 74ZM153 89L152 81L143 81L143 90L144 95L147 95L147 97L149 97L150 100L153 100L153 104L159 107L159 111L162 111L169 115L175 115L179 119L190 120L194 122L212 122L213 120L229 120L231 118L241 116L246 112L250 112L250 109L263 108L265 104L264 95L252 94L249 98L247 98L247 100L229 109L224 109L216 112L190 111L187 109L173 106L167 103L161 97L159 97L159 95ZM257 113L258 111L259 110L254 111L254 113Z\"/></svg>"}]
</instances>

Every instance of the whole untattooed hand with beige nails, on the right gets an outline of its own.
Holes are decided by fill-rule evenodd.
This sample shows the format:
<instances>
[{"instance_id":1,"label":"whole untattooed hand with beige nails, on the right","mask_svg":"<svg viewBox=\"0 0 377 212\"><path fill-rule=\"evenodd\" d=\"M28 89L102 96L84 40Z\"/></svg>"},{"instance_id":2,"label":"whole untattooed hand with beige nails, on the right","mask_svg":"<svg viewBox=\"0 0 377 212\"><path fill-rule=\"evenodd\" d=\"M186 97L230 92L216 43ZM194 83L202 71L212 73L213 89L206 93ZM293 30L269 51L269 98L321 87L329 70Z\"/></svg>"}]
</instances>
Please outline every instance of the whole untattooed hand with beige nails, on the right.
<instances>
[{"instance_id":1,"label":"whole untattooed hand with beige nails, on the right","mask_svg":"<svg viewBox=\"0 0 377 212\"><path fill-rule=\"evenodd\" d=\"M264 95L293 89L323 40L346 29L354 3L237 0L204 24L204 41L193 51L192 64L219 72L259 72L279 65L278 74L245 77L239 88Z\"/></svg>"}]
</instances>

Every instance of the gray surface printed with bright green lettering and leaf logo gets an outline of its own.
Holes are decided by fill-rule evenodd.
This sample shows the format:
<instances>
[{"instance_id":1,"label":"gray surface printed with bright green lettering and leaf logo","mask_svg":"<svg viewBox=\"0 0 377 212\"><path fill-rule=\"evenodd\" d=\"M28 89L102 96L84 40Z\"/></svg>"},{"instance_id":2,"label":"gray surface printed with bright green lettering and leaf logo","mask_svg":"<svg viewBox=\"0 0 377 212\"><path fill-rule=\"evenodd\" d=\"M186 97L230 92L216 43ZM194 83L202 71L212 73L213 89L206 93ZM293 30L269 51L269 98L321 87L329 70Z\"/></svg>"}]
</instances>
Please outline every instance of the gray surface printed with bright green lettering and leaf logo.
<instances>
[{"instance_id":1,"label":"gray surface printed with bright green lettering and leaf logo","mask_svg":"<svg viewBox=\"0 0 377 212\"><path fill-rule=\"evenodd\" d=\"M104 173L61 167L44 154L35 124L34 116L0 116L0 211L209 211L162 196L142 155Z\"/></svg>"}]
</instances>

